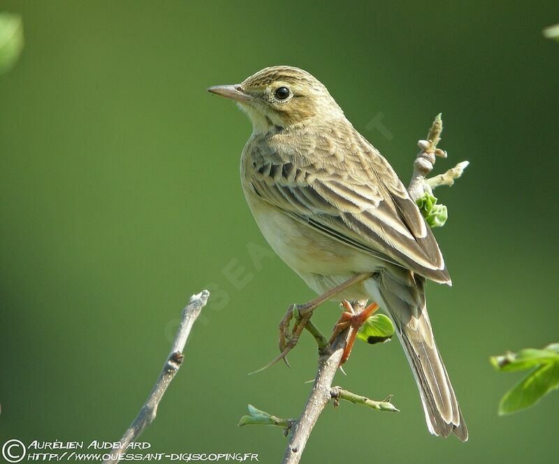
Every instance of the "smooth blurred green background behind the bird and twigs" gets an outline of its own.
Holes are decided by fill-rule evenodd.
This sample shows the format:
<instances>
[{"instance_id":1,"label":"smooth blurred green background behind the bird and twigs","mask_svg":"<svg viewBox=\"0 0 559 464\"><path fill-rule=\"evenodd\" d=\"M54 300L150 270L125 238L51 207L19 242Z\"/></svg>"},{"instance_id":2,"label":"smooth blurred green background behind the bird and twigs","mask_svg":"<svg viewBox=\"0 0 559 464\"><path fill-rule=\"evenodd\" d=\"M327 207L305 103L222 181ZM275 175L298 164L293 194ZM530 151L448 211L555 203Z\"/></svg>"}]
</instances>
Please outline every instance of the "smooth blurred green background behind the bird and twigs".
<instances>
[{"instance_id":1,"label":"smooth blurred green background behind the bird and twigs","mask_svg":"<svg viewBox=\"0 0 559 464\"><path fill-rule=\"evenodd\" d=\"M0 441L117 440L138 412L192 293L212 303L143 435L164 452L254 452L279 430L237 428L247 403L295 416L314 342L277 353L277 322L312 297L268 256L240 189L251 128L206 94L274 64L307 69L405 182L442 111L447 161L437 229L452 288L430 314L470 428L428 434L398 342L358 345L335 383L402 412L328 407L307 463L551 463L559 395L512 416L519 375L488 356L558 341L559 44L556 1L5 1L25 48L0 76ZM381 119L382 126L372 124ZM265 256L255 263L251 251ZM238 275L238 277L231 277ZM238 282L240 281L240 282ZM334 305L317 315L329 331Z\"/></svg>"}]
</instances>

